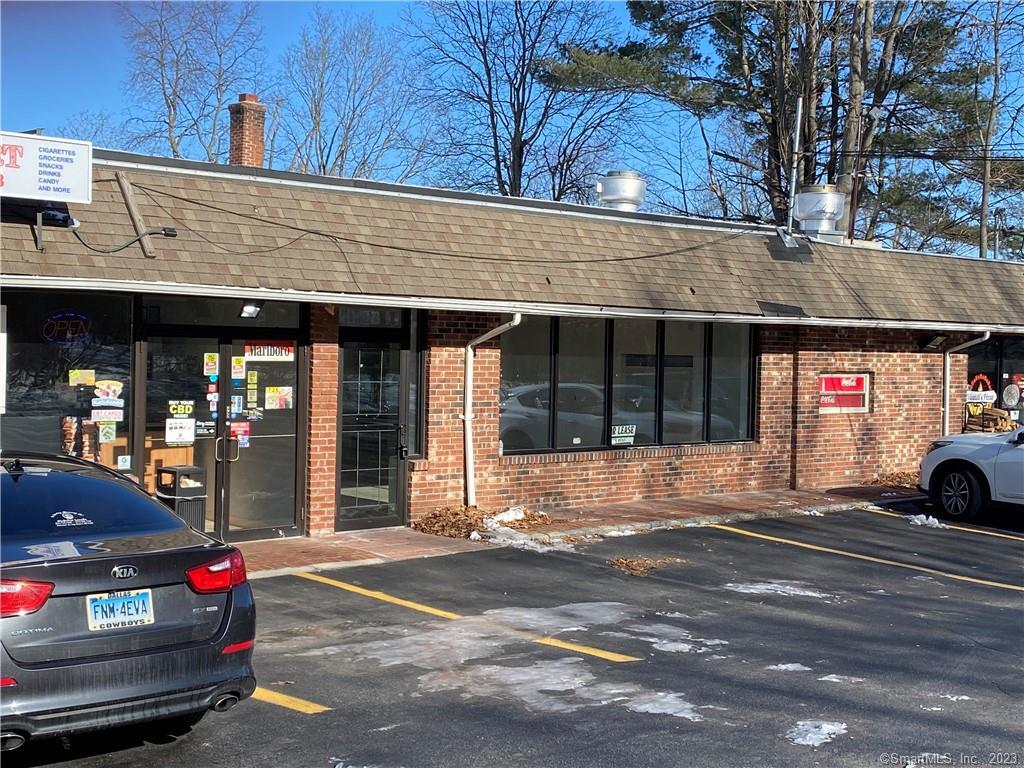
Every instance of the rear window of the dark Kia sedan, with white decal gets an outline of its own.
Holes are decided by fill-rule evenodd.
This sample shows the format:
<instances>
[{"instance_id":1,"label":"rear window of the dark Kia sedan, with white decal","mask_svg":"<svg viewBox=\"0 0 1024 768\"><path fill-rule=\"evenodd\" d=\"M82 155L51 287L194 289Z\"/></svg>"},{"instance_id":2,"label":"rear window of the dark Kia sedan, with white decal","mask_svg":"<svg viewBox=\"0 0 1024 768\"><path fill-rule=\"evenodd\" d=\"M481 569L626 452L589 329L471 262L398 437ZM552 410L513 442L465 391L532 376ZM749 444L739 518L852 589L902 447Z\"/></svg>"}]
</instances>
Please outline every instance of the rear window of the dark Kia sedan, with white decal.
<instances>
[{"instance_id":1,"label":"rear window of the dark Kia sedan, with white decal","mask_svg":"<svg viewBox=\"0 0 1024 768\"><path fill-rule=\"evenodd\" d=\"M30 465L0 470L0 537L46 543L161 534L185 526L159 502L102 470ZM7 559L6 557L4 558Z\"/></svg>"}]
</instances>

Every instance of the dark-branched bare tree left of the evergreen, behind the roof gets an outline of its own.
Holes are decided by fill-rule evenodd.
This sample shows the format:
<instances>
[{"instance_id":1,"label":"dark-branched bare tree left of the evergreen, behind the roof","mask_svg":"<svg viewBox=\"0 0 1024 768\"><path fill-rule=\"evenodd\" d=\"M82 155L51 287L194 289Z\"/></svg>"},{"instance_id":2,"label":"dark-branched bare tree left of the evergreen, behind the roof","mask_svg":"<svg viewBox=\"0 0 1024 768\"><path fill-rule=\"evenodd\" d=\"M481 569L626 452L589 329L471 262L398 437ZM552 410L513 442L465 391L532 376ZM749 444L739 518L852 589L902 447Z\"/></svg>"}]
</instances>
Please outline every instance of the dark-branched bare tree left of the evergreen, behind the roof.
<instances>
[{"instance_id":1,"label":"dark-branched bare tree left of the evergreen, behind the roof","mask_svg":"<svg viewBox=\"0 0 1024 768\"><path fill-rule=\"evenodd\" d=\"M445 124L443 181L511 197L585 199L630 98L545 81L568 46L602 42L607 9L579 0L431 2L407 19Z\"/></svg>"}]
</instances>

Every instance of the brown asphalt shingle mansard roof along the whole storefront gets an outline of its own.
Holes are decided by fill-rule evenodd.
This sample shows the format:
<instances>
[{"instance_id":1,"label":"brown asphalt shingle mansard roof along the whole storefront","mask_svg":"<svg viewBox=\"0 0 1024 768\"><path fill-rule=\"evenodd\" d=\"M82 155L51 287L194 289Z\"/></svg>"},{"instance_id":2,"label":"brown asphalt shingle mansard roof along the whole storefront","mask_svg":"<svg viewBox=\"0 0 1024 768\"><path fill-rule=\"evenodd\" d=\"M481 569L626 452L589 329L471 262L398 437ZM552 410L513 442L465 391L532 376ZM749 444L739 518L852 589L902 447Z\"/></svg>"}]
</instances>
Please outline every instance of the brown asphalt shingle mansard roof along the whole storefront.
<instances>
[{"instance_id":1,"label":"brown asphalt shingle mansard roof along the whole storefront","mask_svg":"<svg viewBox=\"0 0 1024 768\"><path fill-rule=\"evenodd\" d=\"M763 231L97 155L92 204L70 207L81 237L113 248L135 236L118 171L144 225L178 237L151 238L147 259L139 245L102 255L47 227L40 253L28 224L8 216L4 274L754 316L790 305L782 311L821 318L1024 328L1021 264L806 241L786 249Z\"/></svg>"}]
</instances>

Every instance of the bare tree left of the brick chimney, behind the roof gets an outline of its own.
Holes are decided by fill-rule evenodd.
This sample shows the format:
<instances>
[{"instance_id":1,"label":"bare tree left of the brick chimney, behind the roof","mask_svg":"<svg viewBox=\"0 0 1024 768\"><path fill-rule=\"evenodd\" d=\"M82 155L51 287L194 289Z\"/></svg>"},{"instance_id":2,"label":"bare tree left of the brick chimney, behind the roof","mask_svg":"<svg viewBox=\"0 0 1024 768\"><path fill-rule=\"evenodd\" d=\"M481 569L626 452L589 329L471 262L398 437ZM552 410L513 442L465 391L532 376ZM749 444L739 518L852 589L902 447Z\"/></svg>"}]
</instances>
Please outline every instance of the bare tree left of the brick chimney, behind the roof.
<instances>
[{"instance_id":1,"label":"bare tree left of the brick chimney, behind the roof","mask_svg":"<svg viewBox=\"0 0 1024 768\"><path fill-rule=\"evenodd\" d=\"M207 162L227 151L227 104L259 85L262 28L255 3L122 3L131 47L135 138Z\"/></svg>"}]
</instances>

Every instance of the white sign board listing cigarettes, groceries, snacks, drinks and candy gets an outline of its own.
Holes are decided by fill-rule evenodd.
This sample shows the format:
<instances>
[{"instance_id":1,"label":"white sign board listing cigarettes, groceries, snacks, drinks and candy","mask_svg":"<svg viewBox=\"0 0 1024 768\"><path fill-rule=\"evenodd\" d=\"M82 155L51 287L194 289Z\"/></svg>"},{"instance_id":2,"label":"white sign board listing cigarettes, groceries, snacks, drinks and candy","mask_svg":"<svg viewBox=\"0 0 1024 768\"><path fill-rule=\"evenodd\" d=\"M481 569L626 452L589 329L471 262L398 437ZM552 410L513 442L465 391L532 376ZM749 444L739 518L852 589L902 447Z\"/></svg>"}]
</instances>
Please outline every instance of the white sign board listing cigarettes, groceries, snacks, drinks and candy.
<instances>
[{"instance_id":1,"label":"white sign board listing cigarettes, groceries, snacks, drinks and candy","mask_svg":"<svg viewBox=\"0 0 1024 768\"><path fill-rule=\"evenodd\" d=\"M0 131L0 195L49 203L91 203L92 144Z\"/></svg>"}]
</instances>

